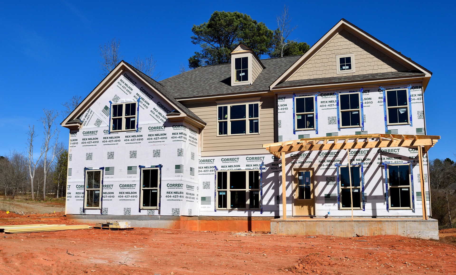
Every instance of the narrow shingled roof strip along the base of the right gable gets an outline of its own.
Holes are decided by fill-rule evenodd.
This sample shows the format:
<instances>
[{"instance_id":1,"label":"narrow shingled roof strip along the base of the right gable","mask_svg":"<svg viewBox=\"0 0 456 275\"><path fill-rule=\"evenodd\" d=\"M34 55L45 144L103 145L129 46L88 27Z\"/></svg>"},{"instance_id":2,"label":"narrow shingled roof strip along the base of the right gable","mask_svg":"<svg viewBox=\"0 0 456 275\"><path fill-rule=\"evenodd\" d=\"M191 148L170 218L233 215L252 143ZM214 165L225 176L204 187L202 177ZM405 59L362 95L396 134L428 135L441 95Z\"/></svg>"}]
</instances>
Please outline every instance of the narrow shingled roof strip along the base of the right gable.
<instances>
[{"instance_id":1,"label":"narrow shingled roof strip along the base of the right gable","mask_svg":"<svg viewBox=\"0 0 456 275\"><path fill-rule=\"evenodd\" d=\"M293 86L303 86L303 85L312 85L312 84L327 84L327 83L343 83L349 81L358 81L358 80L373 80L373 79L385 79L385 78L394 78L402 76L424 76L422 72L409 72L409 71L393 71L393 72L382 72L374 73L368 75L358 75L358 76L336 76L336 77L325 77L325 78L314 78L314 79L303 79L303 80L293 80L279 83L275 87L293 87Z\"/></svg>"}]
</instances>

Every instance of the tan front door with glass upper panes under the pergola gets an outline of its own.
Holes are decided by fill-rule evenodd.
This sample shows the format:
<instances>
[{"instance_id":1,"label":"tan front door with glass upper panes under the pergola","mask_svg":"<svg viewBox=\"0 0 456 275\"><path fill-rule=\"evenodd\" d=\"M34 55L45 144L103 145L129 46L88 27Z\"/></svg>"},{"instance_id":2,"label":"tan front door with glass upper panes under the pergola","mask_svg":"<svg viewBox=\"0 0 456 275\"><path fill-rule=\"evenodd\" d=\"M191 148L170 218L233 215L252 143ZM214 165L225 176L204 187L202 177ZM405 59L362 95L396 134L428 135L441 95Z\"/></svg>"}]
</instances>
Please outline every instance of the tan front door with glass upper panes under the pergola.
<instances>
[{"instance_id":1,"label":"tan front door with glass upper panes under the pergola","mask_svg":"<svg viewBox=\"0 0 456 275\"><path fill-rule=\"evenodd\" d=\"M313 170L295 171L293 182L293 216L315 215Z\"/></svg>"}]
</instances>

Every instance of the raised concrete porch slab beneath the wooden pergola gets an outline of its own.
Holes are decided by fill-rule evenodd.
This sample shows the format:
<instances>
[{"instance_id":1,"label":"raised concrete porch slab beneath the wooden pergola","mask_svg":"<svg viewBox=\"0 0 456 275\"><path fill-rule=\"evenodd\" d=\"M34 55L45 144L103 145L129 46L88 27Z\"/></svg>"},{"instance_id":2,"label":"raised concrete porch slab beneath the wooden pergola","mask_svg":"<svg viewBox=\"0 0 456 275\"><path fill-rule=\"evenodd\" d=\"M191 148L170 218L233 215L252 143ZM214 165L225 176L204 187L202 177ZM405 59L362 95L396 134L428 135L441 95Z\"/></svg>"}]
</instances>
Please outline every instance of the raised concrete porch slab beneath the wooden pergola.
<instances>
[{"instance_id":1,"label":"raised concrete porch slab beneath the wooden pergola","mask_svg":"<svg viewBox=\"0 0 456 275\"><path fill-rule=\"evenodd\" d=\"M339 237L399 235L439 239L436 219L272 219L271 234Z\"/></svg>"}]
</instances>

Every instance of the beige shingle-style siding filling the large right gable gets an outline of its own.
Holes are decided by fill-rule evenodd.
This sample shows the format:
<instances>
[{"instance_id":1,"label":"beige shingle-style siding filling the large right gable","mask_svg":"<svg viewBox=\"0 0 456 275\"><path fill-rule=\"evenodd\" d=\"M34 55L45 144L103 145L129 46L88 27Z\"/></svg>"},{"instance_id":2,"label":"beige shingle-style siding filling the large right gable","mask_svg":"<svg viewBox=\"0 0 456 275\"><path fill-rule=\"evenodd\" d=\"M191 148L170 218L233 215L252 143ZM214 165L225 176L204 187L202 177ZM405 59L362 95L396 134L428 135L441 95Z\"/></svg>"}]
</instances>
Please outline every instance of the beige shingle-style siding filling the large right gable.
<instances>
[{"instance_id":1,"label":"beige shingle-style siding filling the large right gable","mask_svg":"<svg viewBox=\"0 0 456 275\"><path fill-rule=\"evenodd\" d=\"M355 72L337 74L336 55L344 54L354 54ZM408 70L357 36L342 30L287 81Z\"/></svg>"}]
</instances>

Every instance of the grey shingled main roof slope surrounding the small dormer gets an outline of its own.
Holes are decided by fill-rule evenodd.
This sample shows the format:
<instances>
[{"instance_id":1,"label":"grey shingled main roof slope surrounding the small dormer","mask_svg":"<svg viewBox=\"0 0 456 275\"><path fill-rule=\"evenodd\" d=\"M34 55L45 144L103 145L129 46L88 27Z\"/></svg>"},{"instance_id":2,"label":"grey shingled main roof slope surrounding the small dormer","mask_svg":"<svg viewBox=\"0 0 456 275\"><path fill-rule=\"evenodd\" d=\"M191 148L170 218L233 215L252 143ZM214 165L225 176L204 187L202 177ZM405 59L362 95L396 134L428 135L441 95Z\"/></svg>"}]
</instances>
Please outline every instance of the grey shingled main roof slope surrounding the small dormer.
<instances>
[{"instance_id":1,"label":"grey shingled main roof slope surrounding the small dormer","mask_svg":"<svg viewBox=\"0 0 456 275\"><path fill-rule=\"evenodd\" d=\"M176 99L269 91L269 86L300 57L262 59L265 68L252 85L231 86L230 63L198 67L159 83Z\"/></svg>"}]
</instances>

